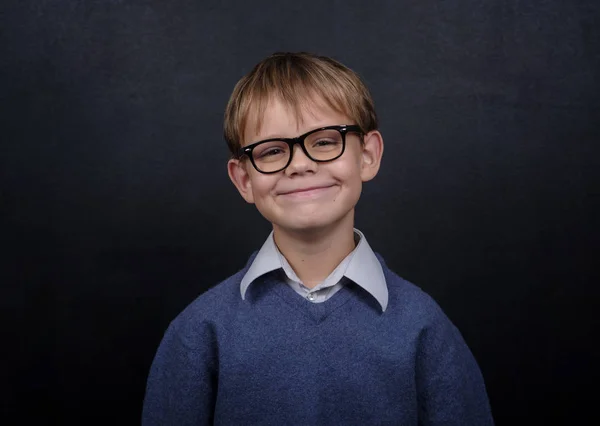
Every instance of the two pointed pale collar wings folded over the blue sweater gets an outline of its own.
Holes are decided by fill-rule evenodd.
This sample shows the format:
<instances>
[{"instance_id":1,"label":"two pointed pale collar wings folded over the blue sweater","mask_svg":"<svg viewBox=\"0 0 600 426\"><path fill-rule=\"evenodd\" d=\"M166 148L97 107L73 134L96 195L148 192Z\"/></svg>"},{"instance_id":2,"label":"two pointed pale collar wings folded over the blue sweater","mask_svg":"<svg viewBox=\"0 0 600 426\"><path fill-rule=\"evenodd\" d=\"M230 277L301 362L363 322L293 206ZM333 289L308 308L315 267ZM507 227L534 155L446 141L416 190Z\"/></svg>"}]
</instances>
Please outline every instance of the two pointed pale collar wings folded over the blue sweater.
<instances>
[{"instance_id":1,"label":"two pointed pale collar wings folded over the blue sweater","mask_svg":"<svg viewBox=\"0 0 600 426\"><path fill-rule=\"evenodd\" d=\"M354 249L354 254L346 268L344 276L354 281L377 300L381 310L385 312L388 305L388 288L381 262L369 246L367 239L358 229L354 232L360 236L360 241ZM245 298L250 284L262 275L283 268L280 252L275 245L273 232L259 250L248 271L242 278L240 293Z\"/></svg>"}]
</instances>

